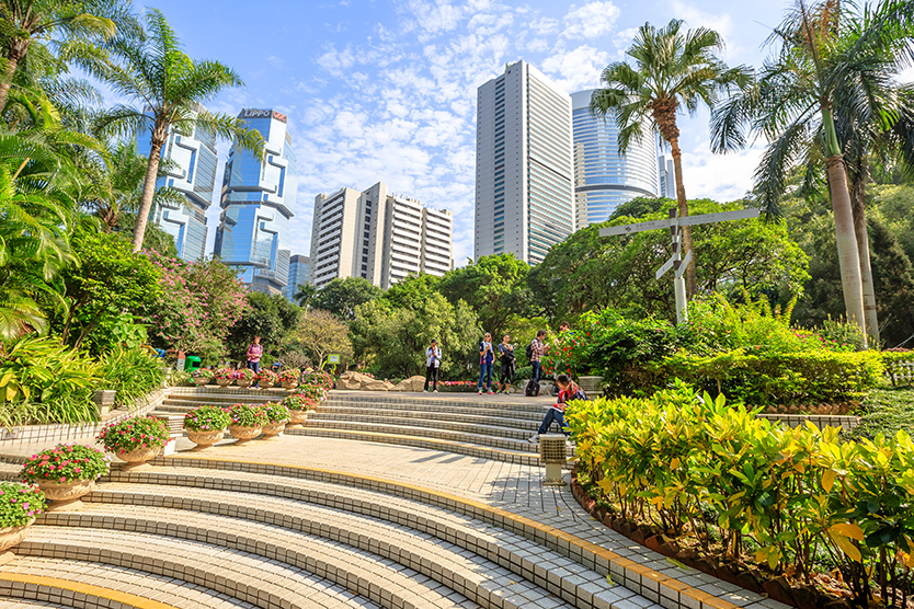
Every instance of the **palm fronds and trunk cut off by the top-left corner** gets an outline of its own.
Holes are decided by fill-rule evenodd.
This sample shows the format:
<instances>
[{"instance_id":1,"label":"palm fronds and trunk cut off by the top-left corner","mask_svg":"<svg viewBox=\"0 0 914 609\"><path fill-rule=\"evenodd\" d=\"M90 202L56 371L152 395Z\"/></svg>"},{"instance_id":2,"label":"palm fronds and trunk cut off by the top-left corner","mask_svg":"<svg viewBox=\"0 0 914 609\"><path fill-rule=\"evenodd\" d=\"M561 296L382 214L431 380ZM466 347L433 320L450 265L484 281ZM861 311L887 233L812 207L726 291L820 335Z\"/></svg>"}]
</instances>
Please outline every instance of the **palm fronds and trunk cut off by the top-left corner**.
<instances>
[{"instance_id":1,"label":"palm fronds and trunk cut off by the top-left corner","mask_svg":"<svg viewBox=\"0 0 914 609\"><path fill-rule=\"evenodd\" d=\"M56 41L61 56L67 59L91 61L98 49L91 41L103 41L115 34L117 19L125 8L113 1L72 0L0 0L0 112L7 106L16 69L32 55L39 61L49 60L45 46L48 38ZM108 16L105 16L108 15Z\"/></svg>"}]
</instances>

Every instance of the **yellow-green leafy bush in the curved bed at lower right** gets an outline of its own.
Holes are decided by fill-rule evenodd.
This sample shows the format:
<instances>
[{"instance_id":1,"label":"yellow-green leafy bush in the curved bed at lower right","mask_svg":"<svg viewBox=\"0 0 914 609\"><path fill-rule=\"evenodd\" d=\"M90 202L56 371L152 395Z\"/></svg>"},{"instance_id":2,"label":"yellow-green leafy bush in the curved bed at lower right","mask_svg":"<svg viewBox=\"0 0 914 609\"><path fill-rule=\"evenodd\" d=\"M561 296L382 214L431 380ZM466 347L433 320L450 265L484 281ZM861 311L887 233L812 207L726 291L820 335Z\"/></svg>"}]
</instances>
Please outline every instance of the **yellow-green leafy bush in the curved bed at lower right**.
<instances>
[{"instance_id":1,"label":"yellow-green leafy bush in the curved bed at lower right","mask_svg":"<svg viewBox=\"0 0 914 609\"><path fill-rule=\"evenodd\" d=\"M882 598L906 588L911 437L838 441L834 427L754 415L683 383L651 398L572 402L565 413L593 491L622 517L807 584L837 567L861 607L872 584Z\"/></svg>"}]
</instances>

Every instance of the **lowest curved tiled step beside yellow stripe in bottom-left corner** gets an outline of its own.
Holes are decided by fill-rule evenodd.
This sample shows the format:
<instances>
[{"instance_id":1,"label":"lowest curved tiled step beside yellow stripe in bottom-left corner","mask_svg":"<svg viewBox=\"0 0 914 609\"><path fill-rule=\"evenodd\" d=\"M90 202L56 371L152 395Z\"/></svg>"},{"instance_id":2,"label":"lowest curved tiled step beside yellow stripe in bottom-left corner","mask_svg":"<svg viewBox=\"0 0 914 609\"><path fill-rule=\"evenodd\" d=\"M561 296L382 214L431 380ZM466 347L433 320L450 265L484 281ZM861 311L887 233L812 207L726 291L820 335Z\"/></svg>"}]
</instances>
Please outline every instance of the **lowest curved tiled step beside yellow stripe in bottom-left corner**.
<instances>
[{"instance_id":1,"label":"lowest curved tiled step beside yellow stripe in bottom-left corner","mask_svg":"<svg viewBox=\"0 0 914 609\"><path fill-rule=\"evenodd\" d=\"M0 596L10 596L9 588L2 588L4 575L52 577L62 582L98 585L113 593L167 602L178 609L254 609L256 607L202 586L175 583L161 575L123 566L90 564L67 559L20 556L14 563L0 567ZM68 590L62 586L58 584L56 587L60 594L60 602L72 607L73 590ZM338 591L344 593L342 588ZM0 607L4 605L0 604Z\"/></svg>"}]
</instances>

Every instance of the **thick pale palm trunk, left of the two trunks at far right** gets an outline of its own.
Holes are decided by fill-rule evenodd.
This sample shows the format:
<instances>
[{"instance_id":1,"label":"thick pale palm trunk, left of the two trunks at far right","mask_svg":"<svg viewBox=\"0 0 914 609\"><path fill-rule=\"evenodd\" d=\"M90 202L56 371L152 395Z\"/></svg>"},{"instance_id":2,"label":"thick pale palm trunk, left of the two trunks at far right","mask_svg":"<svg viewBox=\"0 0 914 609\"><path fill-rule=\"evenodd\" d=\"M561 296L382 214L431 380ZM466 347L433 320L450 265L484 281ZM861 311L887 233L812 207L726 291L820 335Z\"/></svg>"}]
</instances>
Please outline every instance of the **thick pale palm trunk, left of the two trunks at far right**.
<instances>
[{"instance_id":1,"label":"thick pale palm trunk, left of the two trunks at far right","mask_svg":"<svg viewBox=\"0 0 914 609\"><path fill-rule=\"evenodd\" d=\"M847 173L842 154L826 159L829 165L829 188L832 209L835 214L835 237L841 268L841 285L844 290L844 308L847 321L860 326L864 348L867 348L866 314L864 313L864 290L860 277L860 255L854 230L854 214L850 209L850 193L847 189Z\"/></svg>"}]
</instances>

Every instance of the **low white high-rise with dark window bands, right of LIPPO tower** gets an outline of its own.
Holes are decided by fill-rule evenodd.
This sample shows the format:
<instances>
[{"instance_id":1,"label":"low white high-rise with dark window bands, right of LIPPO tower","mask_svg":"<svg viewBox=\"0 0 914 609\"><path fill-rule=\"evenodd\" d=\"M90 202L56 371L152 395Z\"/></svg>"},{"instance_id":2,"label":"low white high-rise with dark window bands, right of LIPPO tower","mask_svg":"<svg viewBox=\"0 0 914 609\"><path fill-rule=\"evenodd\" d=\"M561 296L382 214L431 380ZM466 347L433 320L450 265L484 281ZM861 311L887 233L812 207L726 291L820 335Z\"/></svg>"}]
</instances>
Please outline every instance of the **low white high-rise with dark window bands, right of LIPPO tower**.
<instances>
[{"instance_id":1,"label":"low white high-rise with dark window bands, right of LIPPO tower","mask_svg":"<svg viewBox=\"0 0 914 609\"><path fill-rule=\"evenodd\" d=\"M453 267L453 233L450 211L390 194L384 182L318 195L309 280L321 288L363 277L387 289L411 273L443 276Z\"/></svg>"}]
</instances>

